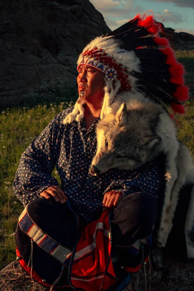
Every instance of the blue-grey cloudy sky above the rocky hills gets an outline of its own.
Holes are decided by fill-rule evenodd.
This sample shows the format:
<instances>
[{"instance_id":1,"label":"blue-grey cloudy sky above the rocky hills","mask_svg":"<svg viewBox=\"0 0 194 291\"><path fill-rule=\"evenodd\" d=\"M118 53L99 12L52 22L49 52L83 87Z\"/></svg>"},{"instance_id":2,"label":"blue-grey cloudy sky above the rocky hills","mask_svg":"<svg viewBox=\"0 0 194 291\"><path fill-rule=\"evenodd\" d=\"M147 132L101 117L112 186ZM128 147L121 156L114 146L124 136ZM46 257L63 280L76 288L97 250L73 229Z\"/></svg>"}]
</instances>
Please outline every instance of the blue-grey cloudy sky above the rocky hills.
<instances>
[{"instance_id":1,"label":"blue-grey cloudy sky above the rocky hills","mask_svg":"<svg viewBox=\"0 0 194 291\"><path fill-rule=\"evenodd\" d=\"M176 32L194 34L194 0L90 0L113 31L138 13L154 12L155 19ZM150 12L151 13L151 12Z\"/></svg>"}]
</instances>

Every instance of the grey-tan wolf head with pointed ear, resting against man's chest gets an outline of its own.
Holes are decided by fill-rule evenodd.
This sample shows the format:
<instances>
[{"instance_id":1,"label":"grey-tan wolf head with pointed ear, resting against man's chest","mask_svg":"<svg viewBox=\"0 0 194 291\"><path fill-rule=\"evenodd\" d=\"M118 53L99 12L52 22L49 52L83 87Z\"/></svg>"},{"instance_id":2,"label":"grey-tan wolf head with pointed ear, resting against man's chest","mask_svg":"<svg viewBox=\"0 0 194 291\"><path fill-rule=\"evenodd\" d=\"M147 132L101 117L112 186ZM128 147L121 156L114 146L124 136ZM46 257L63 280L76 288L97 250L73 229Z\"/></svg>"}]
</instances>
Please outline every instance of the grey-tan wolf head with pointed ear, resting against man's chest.
<instances>
[{"instance_id":1,"label":"grey-tan wolf head with pointed ear, resting against man's chest","mask_svg":"<svg viewBox=\"0 0 194 291\"><path fill-rule=\"evenodd\" d=\"M163 113L161 108L151 103L134 109L122 103L116 113L108 113L100 120L90 174L105 173L112 168L132 170L151 160L154 148L161 141L155 132Z\"/></svg>"}]
</instances>

